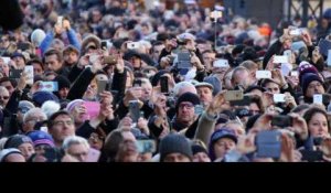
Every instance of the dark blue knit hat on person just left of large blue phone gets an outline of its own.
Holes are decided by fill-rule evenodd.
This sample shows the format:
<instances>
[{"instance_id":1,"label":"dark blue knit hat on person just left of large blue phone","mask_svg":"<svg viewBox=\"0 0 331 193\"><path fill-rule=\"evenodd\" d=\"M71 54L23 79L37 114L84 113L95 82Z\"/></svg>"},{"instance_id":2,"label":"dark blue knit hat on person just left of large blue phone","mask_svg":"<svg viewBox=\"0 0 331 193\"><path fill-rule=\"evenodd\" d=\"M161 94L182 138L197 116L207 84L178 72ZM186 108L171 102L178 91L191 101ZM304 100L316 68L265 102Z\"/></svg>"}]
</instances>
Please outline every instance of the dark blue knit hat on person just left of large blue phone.
<instances>
[{"instance_id":1,"label":"dark blue knit hat on person just left of large blue phone","mask_svg":"<svg viewBox=\"0 0 331 193\"><path fill-rule=\"evenodd\" d=\"M223 127L223 128L214 131L211 137L211 142L209 146L210 158L212 161L214 161L216 159L215 153L214 153L214 144L216 141L218 141L222 138L232 139L235 143L237 143L237 137L235 136L233 130Z\"/></svg>"}]
</instances>

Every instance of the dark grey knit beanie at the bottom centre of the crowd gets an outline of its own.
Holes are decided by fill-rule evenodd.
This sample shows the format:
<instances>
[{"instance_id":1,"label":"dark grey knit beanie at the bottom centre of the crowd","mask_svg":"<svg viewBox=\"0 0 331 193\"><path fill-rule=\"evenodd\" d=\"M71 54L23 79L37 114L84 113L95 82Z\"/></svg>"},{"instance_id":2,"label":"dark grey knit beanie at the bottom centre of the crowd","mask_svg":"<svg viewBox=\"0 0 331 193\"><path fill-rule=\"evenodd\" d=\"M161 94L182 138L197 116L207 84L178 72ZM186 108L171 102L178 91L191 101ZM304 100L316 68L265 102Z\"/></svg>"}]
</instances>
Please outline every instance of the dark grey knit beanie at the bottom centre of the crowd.
<instances>
[{"instance_id":1,"label":"dark grey knit beanie at the bottom centre of the crowd","mask_svg":"<svg viewBox=\"0 0 331 193\"><path fill-rule=\"evenodd\" d=\"M192 160L193 153L189 140L181 135L171 133L160 142L160 162L170 153L182 153Z\"/></svg>"}]
</instances>

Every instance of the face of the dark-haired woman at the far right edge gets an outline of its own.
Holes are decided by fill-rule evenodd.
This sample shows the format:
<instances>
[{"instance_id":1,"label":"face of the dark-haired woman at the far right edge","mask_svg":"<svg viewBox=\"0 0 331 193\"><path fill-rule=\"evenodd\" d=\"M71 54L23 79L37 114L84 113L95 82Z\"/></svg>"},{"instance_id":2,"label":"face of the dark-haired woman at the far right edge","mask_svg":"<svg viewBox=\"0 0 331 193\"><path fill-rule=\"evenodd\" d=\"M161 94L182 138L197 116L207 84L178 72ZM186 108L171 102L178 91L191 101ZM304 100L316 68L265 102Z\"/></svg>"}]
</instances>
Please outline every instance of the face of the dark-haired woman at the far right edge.
<instances>
[{"instance_id":1,"label":"face of the dark-haired woman at the far right edge","mask_svg":"<svg viewBox=\"0 0 331 193\"><path fill-rule=\"evenodd\" d=\"M308 129L312 137L328 137L328 119L323 114L314 114L308 122Z\"/></svg>"}]
</instances>

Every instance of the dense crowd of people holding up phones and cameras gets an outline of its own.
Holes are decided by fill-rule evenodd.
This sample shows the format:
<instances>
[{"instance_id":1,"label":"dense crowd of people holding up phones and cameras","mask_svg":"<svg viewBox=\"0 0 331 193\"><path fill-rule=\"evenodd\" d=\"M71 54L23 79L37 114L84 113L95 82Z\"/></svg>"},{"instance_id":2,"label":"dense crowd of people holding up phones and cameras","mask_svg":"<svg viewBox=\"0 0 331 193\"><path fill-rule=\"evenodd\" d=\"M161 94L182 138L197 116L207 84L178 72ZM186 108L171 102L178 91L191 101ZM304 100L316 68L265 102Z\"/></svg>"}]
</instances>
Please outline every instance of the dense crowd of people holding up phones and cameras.
<instances>
[{"instance_id":1,"label":"dense crowd of people holding up phones and cameras","mask_svg":"<svg viewBox=\"0 0 331 193\"><path fill-rule=\"evenodd\" d=\"M331 161L329 14L273 29L194 0L19 2L0 162Z\"/></svg>"}]
</instances>

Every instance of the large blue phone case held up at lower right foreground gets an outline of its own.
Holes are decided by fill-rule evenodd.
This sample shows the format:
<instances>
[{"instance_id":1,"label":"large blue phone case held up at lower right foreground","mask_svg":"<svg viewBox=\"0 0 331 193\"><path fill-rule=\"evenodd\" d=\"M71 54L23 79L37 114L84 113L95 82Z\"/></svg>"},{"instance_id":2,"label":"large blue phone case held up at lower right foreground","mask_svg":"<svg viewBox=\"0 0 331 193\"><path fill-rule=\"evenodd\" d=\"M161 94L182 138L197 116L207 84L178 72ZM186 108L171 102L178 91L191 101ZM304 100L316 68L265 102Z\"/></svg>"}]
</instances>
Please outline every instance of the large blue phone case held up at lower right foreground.
<instances>
[{"instance_id":1,"label":"large blue phone case held up at lower right foreground","mask_svg":"<svg viewBox=\"0 0 331 193\"><path fill-rule=\"evenodd\" d=\"M256 136L258 158L278 159L281 153L281 132L279 130L261 130Z\"/></svg>"}]
</instances>

